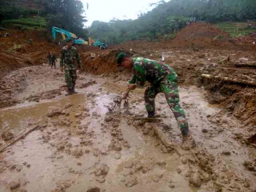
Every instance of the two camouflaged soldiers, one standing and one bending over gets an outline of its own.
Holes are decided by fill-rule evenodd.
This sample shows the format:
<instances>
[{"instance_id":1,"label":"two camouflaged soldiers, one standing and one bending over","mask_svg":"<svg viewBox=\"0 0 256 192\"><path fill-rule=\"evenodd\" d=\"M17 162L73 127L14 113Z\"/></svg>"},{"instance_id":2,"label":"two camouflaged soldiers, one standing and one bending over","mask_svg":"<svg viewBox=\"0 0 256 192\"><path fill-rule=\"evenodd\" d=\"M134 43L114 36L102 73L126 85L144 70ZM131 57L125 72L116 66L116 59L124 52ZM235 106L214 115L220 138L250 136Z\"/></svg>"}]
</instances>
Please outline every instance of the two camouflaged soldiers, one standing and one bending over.
<instances>
[{"instance_id":1,"label":"two camouflaged soldiers, one standing and one bending over","mask_svg":"<svg viewBox=\"0 0 256 192\"><path fill-rule=\"evenodd\" d=\"M80 56L77 49L72 46L72 38L66 38L66 46L61 49L60 69L65 73L65 82L67 84L67 95L76 93L74 91L76 75L76 62L78 67L82 67ZM155 60L131 57L127 53L119 53L117 56L117 65L127 69L132 69L133 75L128 82L128 90L134 90L136 87L143 87L145 82L149 82L150 86L146 88L144 99L148 118L155 117L155 97L158 93L165 94L166 101L173 111L174 117L181 129L183 135L182 148L189 150L195 146L195 140L189 132L189 124L186 119L185 112L180 105L180 97L178 91L178 75L169 65ZM123 99L126 99L125 94Z\"/></svg>"}]
</instances>

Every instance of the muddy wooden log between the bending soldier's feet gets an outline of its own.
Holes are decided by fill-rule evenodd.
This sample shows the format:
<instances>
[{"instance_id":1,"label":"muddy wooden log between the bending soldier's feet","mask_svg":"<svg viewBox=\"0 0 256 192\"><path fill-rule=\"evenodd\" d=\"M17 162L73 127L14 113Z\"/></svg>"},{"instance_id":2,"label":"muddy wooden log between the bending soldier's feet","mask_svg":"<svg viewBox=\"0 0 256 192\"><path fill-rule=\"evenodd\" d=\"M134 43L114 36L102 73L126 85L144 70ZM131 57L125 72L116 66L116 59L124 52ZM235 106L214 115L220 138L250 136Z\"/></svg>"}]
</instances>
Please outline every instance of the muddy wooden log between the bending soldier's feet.
<instances>
[{"instance_id":1,"label":"muddy wooden log between the bending soldier's feet","mask_svg":"<svg viewBox=\"0 0 256 192\"><path fill-rule=\"evenodd\" d=\"M155 134L157 135L161 143L166 147L167 151L168 152L174 151L175 150L174 144L172 143L172 141L170 141L170 139L168 139L168 137L162 131L162 129L159 128L158 125L155 123L148 123L148 124L152 126L152 129L155 131Z\"/></svg>"}]
</instances>

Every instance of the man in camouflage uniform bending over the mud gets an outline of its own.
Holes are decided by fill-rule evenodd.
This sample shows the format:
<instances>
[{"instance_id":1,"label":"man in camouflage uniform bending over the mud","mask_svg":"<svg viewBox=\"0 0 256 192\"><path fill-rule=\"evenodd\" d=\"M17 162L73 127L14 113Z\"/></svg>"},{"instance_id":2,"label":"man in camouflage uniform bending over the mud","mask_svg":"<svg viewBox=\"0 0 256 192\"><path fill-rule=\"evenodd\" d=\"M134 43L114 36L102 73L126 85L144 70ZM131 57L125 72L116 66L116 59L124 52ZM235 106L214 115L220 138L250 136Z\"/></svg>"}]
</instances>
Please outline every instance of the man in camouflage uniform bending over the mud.
<instances>
[{"instance_id":1,"label":"man in camouflage uniform bending over the mud","mask_svg":"<svg viewBox=\"0 0 256 192\"><path fill-rule=\"evenodd\" d=\"M133 70L133 76L128 82L128 89L134 90L137 86L142 87L145 82L150 82L151 85L146 88L144 95L148 118L155 116L155 96L159 92L164 92L166 101L173 111L174 117L181 129L183 149L189 149L187 143L191 147L195 146L195 141L191 134L189 134L185 112L179 103L178 76L174 70L167 64L142 57L132 58L126 53L120 53L118 55L117 63Z\"/></svg>"}]
</instances>

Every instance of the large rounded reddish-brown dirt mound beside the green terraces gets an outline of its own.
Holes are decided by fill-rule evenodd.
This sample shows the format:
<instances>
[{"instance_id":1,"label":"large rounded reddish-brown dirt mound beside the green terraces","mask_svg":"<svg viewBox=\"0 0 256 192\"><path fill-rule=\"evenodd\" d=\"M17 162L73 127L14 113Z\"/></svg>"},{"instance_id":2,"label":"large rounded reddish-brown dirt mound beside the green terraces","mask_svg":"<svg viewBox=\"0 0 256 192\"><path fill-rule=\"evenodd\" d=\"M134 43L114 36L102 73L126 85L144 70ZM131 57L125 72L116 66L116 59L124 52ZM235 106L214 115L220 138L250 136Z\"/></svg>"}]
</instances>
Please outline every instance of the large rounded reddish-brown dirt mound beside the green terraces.
<instances>
[{"instance_id":1,"label":"large rounded reddish-brown dirt mound beside the green terraces","mask_svg":"<svg viewBox=\"0 0 256 192\"><path fill-rule=\"evenodd\" d=\"M221 46L222 48L234 47L228 33L209 23L191 23L177 33L172 41L176 47L210 47Z\"/></svg>"}]
</instances>

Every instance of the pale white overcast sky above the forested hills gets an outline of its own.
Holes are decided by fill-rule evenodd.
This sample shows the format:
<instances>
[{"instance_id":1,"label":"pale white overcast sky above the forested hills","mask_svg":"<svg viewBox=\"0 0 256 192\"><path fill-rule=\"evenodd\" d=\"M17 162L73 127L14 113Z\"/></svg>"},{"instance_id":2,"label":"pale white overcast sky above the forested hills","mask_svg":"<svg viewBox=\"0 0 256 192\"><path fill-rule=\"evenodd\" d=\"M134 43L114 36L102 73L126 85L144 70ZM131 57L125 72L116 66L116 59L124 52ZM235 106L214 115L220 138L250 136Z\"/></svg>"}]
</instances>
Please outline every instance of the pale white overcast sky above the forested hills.
<instances>
[{"instance_id":1,"label":"pale white overcast sky above the forested hills","mask_svg":"<svg viewBox=\"0 0 256 192\"><path fill-rule=\"evenodd\" d=\"M85 9L85 26L89 27L94 20L108 22L113 18L117 19L136 19L142 12L154 9L150 3L156 3L159 0L81 0ZM165 0L166 2L168 0ZM86 9L86 3L89 8Z\"/></svg>"}]
</instances>

